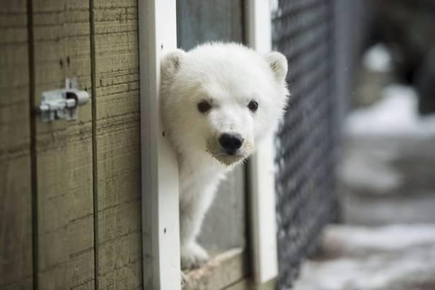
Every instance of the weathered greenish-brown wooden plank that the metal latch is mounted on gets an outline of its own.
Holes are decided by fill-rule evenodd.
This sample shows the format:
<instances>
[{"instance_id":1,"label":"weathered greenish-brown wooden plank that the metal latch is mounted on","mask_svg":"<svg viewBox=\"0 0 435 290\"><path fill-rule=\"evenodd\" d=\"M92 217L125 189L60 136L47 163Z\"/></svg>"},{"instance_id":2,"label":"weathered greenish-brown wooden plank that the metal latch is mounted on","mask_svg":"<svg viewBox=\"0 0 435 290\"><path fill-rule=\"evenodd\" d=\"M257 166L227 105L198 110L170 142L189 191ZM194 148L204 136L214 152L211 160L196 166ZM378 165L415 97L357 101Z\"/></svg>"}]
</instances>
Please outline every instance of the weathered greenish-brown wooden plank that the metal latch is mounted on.
<instances>
[{"instance_id":1,"label":"weathered greenish-brown wooden plank that the metal latch is mounted on","mask_svg":"<svg viewBox=\"0 0 435 290\"><path fill-rule=\"evenodd\" d=\"M33 0L35 105L42 91L77 77L91 91L88 0ZM79 119L36 122L37 285L93 289L91 102Z\"/></svg>"}]
</instances>

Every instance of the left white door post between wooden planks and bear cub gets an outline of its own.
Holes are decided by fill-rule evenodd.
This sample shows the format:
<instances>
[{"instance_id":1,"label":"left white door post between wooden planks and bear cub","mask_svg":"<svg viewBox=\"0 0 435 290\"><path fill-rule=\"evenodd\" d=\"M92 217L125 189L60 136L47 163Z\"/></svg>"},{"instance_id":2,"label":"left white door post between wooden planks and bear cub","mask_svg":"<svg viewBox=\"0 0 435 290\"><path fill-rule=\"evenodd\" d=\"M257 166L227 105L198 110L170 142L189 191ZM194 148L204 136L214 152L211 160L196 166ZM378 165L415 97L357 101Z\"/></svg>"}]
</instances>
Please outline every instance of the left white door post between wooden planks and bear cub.
<instances>
[{"instance_id":1,"label":"left white door post between wooden planks and bear cub","mask_svg":"<svg viewBox=\"0 0 435 290\"><path fill-rule=\"evenodd\" d=\"M139 0L144 289L180 289L178 161L160 116L160 59L177 48L175 0Z\"/></svg>"}]
</instances>

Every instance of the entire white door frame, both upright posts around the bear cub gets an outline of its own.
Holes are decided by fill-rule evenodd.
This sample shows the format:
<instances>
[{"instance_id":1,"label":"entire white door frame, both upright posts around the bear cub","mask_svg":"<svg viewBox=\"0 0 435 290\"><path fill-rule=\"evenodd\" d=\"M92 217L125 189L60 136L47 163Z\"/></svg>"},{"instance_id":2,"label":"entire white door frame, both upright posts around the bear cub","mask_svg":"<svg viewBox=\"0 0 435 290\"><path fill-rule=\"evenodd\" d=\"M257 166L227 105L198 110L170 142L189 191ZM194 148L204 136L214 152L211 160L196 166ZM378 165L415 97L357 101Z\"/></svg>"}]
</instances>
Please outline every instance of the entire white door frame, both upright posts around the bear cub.
<instances>
[{"instance_id":1,"label":"entire white door frame, both upright posts around the bear cub","mask_svg":"<svg viewBox=\"0 0 435 290\"><path fill-rule=\"evenodd\" d=\"M177 47L175 0L138 0L144 289L180 289L178 161L161 123L160 59ZM248 44L271 50L269 1L248 0ZM273 137L250 161L253 268L257 283L277 276Z\"/></svg>"}]
</instances>

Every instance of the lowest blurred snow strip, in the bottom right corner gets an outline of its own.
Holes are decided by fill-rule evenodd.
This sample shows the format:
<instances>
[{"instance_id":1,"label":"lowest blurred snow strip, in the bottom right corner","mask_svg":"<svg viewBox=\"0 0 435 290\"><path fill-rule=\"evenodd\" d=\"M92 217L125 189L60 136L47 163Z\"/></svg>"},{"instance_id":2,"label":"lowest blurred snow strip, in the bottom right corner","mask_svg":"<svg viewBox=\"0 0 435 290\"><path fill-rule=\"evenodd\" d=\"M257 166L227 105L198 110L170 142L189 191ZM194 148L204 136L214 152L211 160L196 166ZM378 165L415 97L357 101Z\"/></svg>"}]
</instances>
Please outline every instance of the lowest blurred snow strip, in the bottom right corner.
<instances>
[{"instance_id":1,"label":"lowest blurred snow strip, in the bottom right corner","mask_svg":"<svg viewBox=\"0 0 435 290\"><path fill-rule=\"evenodd\" d=\"M417 250L398 257L371 256L363 261L308 262L303 266L302 277L294 290L417 289L410 288L410 284L434 283L434 248L431 250L429 253L427 249Z\"/></svg>"}]
</instances>

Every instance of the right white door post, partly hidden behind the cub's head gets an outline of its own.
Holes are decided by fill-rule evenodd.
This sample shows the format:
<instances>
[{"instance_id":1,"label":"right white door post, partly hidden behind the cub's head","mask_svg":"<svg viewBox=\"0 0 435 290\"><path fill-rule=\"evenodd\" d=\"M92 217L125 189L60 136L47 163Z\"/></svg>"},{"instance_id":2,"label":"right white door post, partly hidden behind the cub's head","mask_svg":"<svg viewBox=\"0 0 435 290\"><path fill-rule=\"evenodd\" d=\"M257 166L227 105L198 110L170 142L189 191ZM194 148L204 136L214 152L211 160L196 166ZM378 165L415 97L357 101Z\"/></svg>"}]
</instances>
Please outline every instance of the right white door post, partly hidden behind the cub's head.
<instances>
[{"instance_id":1,"label":"right white door post, partly hidden behind the cub's head","mask_svg":"<svg viewBox=\"0 0 435 290\"><path fill-rule=\"evenodd\" d=\"M272 50L269 1L248 0L247 7L248 45L262 54ZM248 163L253 270L259 284L278 274L274 156L274 134L270 134Z\"/></svg>"}]
</instances>

